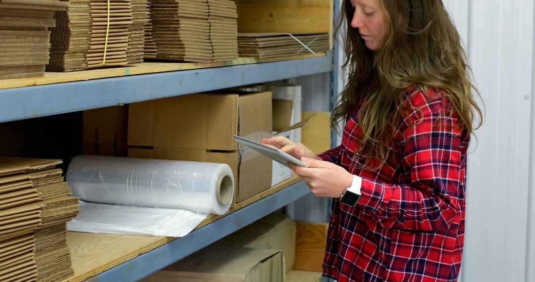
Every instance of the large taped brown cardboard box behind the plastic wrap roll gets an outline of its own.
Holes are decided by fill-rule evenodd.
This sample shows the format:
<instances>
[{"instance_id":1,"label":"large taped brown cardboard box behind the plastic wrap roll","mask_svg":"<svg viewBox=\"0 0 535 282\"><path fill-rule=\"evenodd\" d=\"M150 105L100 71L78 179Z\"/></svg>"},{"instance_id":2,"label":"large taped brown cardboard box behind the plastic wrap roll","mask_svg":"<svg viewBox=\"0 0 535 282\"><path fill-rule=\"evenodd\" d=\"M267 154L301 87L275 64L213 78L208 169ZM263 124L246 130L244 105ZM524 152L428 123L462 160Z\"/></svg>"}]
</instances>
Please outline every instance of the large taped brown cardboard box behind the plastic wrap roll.
<instances>
[{"instance_id":1,"label":"large taped brown cardboard box behind the plastic wrap roll","mask_svg":"<svg viewBox=\"0 0 535 282\"><path fill-rule=\"evenodd\" d=\"M232 137L271 136L271 92L194 94L130 104L128 156L227 163L235 203L271 187L272 161Z\"/></svg>"}]
</instances>

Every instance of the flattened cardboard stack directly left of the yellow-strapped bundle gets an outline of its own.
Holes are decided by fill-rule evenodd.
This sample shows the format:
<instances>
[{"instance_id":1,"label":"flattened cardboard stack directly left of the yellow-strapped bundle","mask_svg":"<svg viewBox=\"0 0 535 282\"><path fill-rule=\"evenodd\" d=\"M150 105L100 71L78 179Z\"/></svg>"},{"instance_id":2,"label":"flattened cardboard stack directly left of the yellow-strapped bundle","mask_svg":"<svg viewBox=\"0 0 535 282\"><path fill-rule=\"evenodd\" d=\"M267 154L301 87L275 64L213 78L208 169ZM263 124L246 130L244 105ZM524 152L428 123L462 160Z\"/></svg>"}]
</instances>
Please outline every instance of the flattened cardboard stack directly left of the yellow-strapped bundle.
<instances>
[{"instance_id":1,"label":"flattened cardboard stack directly left of the yellow-strapped bundle","mask_svg":"<svg viewBox=\"0 0 535 282\"><path fill-rule=\"evenodd\" d=\"M49 72L71 72L87 68L86 53L91 42L89 0L62 0L66 11L54 15L56 27L51 29Z\"/></svg>"}]
</instances>

